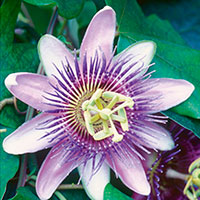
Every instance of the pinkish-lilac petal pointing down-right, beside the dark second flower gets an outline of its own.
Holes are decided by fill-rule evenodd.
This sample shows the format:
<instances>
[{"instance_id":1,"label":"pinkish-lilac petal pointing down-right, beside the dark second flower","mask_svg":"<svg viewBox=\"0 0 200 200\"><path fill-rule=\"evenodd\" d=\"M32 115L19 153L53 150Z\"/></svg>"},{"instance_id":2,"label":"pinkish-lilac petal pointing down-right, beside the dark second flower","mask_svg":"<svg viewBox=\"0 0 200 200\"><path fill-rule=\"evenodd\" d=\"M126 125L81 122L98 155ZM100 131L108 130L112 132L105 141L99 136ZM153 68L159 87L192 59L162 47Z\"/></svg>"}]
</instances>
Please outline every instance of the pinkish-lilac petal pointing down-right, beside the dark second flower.
<instances>
[{"instance_id":1,"label":"pinkish-lilac petal pointing down-right, beside the dark second flower","mask_svg":"<svg viewBox=\"0 0 200 200\"><path fill-rule=\"evenodd\" d=\"M139 194L149 195L151 188L147 181L143 166L139 158L136 156L134 157L135 159L132 159L131 165L127 165L129 161L126 162L124 159L125 155L123 156L123 162L117 155L112 157L112 161L108 157L107 162L113 171L119 175L120 179L128 188Z\"/></svg>"}]
</instances>

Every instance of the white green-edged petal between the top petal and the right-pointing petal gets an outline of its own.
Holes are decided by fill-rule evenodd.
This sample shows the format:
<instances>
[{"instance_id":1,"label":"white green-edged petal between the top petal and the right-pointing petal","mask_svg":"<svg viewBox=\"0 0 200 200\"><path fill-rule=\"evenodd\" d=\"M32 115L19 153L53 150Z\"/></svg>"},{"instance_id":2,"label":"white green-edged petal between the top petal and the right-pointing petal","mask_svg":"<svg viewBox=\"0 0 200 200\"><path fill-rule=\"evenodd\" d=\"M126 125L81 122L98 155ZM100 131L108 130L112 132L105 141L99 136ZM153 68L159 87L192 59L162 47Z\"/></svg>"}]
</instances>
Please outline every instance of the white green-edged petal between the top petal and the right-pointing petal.
<instances>
[{"instance_id":1,"label":"white green-edged petal between the top petal and the right-pointing petal","mask_svg":"<svg viewBox=\"0 0 200 200\"><path fill-rule=\"evenodd\" d=\"M122 66L121 74L134 64L134 66L121 78L121 81L138 69L144 74L148 70L148 65L152 61L155 52L156 44L154 42L141 41L130 45L120 54L115 56L114 63L118 63L120 60L128 60L128 62Z\"/></svg>"}]
</instances>

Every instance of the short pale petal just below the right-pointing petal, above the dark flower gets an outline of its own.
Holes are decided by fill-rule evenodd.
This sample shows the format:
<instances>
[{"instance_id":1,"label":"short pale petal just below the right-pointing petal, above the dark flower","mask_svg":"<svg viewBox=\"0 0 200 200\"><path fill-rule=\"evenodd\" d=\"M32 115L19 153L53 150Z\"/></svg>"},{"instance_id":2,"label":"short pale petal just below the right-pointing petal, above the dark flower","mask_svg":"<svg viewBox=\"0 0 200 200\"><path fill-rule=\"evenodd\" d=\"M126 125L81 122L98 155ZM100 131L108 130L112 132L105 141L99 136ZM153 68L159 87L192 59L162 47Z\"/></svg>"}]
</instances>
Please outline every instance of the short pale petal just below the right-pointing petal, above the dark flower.
<instances>
[{"instance_id":1,"label":"short pale petal just below the right-pointing petal, above the dark flower","mask_svg":"<svg viewBox=\"0 0 200 200\"><path fill-rule=\"evenodd\" d=\"M132 129L134 130L134 136L136 136L133 137L133 140L148 148L162 151L174 148L174 141L170 133L155 123L141 122L137 126L133 125Z\"/></svg>"}]
</instances>

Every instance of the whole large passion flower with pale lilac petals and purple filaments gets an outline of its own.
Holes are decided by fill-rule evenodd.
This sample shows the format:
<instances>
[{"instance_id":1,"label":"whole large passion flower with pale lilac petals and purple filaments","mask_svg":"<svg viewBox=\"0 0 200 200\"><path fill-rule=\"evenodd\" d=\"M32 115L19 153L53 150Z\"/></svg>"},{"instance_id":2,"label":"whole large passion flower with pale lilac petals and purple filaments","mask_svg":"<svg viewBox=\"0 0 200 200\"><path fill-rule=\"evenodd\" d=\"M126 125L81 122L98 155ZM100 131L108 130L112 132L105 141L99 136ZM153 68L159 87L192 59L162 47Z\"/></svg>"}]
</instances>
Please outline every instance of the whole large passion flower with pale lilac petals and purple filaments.
<instances>
[{"instance_id":1,"label":"whole large passion flower with pale lilac petals and purple filaments","mask_svg":"<svg viewBox=\"0 0 200 200\"><path fill-rule=\"evenodd\" d=\"M12 154L52 147L36 181L41 199L50 198L76 167L92 199L103 198L109 167L130 189L148 195L140 151L174 147L168 131L155 123L164 119L153 114L185 101L194 86L149 79L156 48L151 41L114 56L115 28L115 12L106 6L89 24L79 58L45 35L38 49L47 76L15 73L5 80L12 94L42 111L3 142Z\"/></svg>"}]
</instances>

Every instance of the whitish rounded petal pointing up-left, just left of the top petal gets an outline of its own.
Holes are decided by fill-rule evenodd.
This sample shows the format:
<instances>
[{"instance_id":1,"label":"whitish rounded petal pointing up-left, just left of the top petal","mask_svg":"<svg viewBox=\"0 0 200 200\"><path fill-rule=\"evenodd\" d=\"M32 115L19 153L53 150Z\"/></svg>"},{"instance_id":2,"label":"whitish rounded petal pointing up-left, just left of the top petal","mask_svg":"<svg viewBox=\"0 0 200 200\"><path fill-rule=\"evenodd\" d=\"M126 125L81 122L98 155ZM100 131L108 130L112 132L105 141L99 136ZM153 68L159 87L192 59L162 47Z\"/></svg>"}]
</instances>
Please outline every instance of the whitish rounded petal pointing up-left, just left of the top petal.
<instances>
[{"instance_id":1,"label":"whitish rounded petal pointing up-left, just left of the top petal","mask_svg":"<svg viewBox=\"0 0 200 200\"><path fill-rule=\"evenodd\" d=\"M62 69L62 62L68 60L74 70L74 58L65 45L52 35L44 35L38 43L40 60L45 68L47 76L52 74L59 76L56 67ZM56 67L54 66L56 65Z\"/></svg>"}]
</instances>

